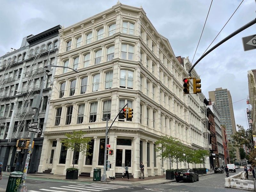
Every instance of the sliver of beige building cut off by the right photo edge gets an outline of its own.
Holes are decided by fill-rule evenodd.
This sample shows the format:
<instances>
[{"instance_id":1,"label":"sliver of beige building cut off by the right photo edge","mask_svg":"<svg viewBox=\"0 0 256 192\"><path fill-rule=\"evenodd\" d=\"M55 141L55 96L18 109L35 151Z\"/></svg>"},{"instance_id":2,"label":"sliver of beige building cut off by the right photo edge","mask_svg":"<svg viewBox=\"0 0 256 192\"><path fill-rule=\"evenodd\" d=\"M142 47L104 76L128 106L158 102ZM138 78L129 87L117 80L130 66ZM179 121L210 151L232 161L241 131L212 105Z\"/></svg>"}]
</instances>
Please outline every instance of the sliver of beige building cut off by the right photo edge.
<instances>
[{"instance_id":1,"label":"sliver of beige building cut off by the right photo edge","mask_svg":"<svg viewBox=\"0 0 256 192\"><path fill-rule=\"evenodd\" d=\"M249 101L252 105L251 109L251 119L252 121L249 122L252 123L252 131L256 131L256 69L252 69L248 71L248 87L249 87ZM248 113L247 113L248 114Z\"/></svg>"}]
</instances>

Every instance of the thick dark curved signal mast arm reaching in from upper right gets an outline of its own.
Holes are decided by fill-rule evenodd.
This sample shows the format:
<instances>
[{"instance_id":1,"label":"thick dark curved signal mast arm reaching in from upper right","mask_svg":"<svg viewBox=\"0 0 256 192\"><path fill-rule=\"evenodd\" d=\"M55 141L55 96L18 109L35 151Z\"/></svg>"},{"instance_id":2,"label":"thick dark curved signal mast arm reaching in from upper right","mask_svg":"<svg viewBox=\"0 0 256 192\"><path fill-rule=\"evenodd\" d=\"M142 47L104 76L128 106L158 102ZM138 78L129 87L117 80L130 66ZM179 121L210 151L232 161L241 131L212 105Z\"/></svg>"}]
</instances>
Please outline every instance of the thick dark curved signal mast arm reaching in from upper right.
<instances>
[{"instance_id":1,"label":"thick dark curved signal mast arm reaching in from upper right","mask_svg":"<svg viewBox=\"0 0 256 192\"><path fill-rule=\"evenodd\" d=\"M229 36L227 36L226 38L224 38L223 40L221 40L219 43L217 43L216 45L214 45L211 49L209 49L209 51L205 52L196 62L195 64L189 69L188 71L188 75L191 76L191 71L192 69L196 66L196 64L202 60L206 55L208 55L210 52L212 52L215 48L219 47L221 44L223 44L224 42L228 41L228 39L230 39L231 37L235 36L236 34L240 33L241 31L243 31L244 29L247 29L248 27L251 27L252 25L254 25L256 23L256 18L252 21L250 21L249 23L245 24L243 27L237 29L235 32L231 33Z\"/></svg>"}]
</instances>

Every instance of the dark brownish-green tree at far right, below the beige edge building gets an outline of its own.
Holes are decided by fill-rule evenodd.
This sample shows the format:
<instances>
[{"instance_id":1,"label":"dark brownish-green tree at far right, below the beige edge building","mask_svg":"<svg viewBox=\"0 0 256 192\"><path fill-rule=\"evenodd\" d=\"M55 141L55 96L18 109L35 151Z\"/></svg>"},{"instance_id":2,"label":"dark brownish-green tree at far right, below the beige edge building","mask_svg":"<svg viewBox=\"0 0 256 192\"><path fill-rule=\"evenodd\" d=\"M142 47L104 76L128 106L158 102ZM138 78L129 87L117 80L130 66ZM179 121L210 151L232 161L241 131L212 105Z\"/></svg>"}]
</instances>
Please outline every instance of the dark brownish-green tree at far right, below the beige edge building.
<instances>
[{"instance_id":1,"label":"dark brownish-green tree at far right, below the beige edge building","mask_svg":"<svg viewBox=\"0 0 256 192\"><path fill-rule=\"evenodd\" d=\"M245 147L252 150L252 133L246 132L244 126L242 125L237 124L236 126L238 128L238 131L235 134L231 135L231 137L236 141L234 143L234 146L243 148L243 145L245 145Z\"/></svg>"}]
</instances>

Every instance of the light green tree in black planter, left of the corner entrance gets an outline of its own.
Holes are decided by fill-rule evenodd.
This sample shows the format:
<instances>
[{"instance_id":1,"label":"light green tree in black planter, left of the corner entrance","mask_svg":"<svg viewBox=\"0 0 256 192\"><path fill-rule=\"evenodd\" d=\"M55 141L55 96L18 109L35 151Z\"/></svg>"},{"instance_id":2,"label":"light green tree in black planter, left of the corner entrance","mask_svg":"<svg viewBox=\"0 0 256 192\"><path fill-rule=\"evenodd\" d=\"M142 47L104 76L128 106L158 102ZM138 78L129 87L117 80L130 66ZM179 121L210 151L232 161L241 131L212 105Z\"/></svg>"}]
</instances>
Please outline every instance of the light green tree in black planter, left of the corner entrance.
<instances>
[{"instance_id":1,"label":"light green tree in black planter, left of the corner entrance","mask_svg":"<svg viewBox=\"0 0 256 192\"><path fill-rule=\"evenodd\" d=\"M92 155L89 154L89 149L91 146L88 144L91 141L90 137L84 137L86 133L84 131L74 131L72 133L65 133L66 139L63 139L61 143L63 143L66 149L71 149L76 152L81 152L84 155ZM73 157L73 168L75 164L75 158Z\"/></svg>"}]
</instances>

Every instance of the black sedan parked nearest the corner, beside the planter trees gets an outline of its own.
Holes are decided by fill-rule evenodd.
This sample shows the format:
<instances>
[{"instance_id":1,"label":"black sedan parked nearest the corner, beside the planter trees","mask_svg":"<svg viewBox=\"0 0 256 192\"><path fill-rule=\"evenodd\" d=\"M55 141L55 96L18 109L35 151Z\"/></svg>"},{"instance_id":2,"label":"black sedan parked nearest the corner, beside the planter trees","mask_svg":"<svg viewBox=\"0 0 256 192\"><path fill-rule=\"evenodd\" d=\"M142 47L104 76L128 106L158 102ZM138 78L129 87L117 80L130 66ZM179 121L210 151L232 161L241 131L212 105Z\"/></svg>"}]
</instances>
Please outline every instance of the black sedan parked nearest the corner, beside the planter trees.
<instances>
[{"instance_id":1,"label":"black sedan parked nearest the corner, beside the planter trees","mask_svg":"<svg viewBox=\"0 0 256 192\"><path fill-rule=\"evenodd\" d=\"M199 181L199 176L193 169L179 169L175 172L175 179L177 182L189 180L191 182Z\"/></svg>"}]
</instances>

